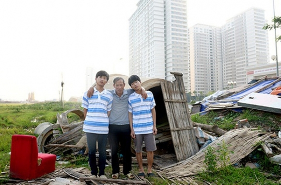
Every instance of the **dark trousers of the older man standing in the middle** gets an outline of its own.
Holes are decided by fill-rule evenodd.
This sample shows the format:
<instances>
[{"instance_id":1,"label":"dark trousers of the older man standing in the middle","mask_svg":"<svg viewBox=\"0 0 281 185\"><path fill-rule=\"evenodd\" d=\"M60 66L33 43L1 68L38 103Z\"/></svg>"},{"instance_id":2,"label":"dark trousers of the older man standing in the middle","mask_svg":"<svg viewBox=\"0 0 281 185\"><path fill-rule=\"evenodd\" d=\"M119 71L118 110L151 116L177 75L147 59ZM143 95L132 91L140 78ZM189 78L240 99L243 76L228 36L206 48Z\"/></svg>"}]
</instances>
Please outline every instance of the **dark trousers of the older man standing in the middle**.
<instances>
[{"instance_id":1,"label":"dark trousers of the older man standing in the middle","mask_svg":"<svg viewBox=\"0 0 281 185\"><path fill-rule=\"evenodd\" d=\"M109 124L109 145L111 150L112 174L119 173L118 147L121 145L123 155L123 173L126 175L132 169L130 125Z\"/></svg>"}]
</instances>

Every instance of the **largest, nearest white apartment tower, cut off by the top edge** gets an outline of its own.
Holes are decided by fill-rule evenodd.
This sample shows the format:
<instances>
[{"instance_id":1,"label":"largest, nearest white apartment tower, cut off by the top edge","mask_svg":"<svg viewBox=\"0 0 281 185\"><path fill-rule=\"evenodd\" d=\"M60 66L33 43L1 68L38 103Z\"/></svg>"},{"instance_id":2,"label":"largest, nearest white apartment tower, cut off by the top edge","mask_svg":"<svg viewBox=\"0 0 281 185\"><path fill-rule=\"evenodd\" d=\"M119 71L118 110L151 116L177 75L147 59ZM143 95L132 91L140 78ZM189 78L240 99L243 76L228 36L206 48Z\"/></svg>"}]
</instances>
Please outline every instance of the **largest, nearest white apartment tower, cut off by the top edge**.
<instances>
[{"instance_id":1,"label":"largest, nearest white apartment tower, cut off by the top edge","mask_svg":"<svg viewBox=\"0 0 281 185\"><path fill-rule=\"evenodd\" d=\"M129 75L172 81L189 91L186 0L140 0L129 19Z\"/></svg>"}]
</instances>

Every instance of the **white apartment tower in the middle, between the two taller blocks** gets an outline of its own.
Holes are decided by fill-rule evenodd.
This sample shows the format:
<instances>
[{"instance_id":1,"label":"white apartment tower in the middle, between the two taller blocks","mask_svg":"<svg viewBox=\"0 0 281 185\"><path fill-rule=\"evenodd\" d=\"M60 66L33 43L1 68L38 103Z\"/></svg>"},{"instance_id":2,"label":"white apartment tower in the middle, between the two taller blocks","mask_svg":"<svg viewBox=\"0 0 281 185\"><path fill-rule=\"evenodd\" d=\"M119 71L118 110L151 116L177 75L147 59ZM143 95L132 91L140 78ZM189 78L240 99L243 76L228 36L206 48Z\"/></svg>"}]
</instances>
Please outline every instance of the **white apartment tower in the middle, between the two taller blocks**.
<instances>
[{"instance_id":1,"label":"white apartment tower in the middle, between the two taller blocks","mask_svg":"<svg viewBox=\"0 0 281 185\"><path fill-rule=\"evenodd\" d=\"M196 24L189 28L190 92L207 94L221 90L221 29Z\"/></svg>"}]
</instances>

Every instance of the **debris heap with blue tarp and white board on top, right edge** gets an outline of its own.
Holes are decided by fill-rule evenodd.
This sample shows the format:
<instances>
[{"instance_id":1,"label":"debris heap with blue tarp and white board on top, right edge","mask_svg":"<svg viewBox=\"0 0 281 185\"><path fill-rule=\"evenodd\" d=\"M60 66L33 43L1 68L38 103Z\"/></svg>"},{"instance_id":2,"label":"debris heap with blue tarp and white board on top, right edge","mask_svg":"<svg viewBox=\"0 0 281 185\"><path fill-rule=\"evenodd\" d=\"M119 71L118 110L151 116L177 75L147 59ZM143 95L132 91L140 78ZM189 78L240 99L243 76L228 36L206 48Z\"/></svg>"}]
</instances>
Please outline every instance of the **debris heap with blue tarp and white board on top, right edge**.
<instances>
[{"instance_id":1,"label":"debris heap with blue tarp and white board on top, right edge","mask_svg":"<svg viewBox=\"0 0 281 185\"><path fill-rule=\"evenodd\" d=\"M192 106L191 114L222 109L240 111L243 107L281 114L280 89L281 77L265 76L253 84L218 91L205 97Z\"/></svg>"}]
</instances>

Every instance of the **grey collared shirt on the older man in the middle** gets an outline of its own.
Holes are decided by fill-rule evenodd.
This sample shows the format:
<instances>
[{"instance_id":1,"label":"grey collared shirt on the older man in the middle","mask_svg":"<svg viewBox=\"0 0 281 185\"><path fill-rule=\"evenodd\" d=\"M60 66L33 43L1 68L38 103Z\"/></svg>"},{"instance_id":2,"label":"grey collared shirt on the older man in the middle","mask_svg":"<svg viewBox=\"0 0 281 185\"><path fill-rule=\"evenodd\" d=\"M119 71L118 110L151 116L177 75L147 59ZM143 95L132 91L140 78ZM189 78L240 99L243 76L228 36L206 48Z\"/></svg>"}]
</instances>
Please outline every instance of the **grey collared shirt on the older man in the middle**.
<instances>
[{"instance_id":1,"label":"grey collared shirt on the older man in the middle","mask_svg":"<svg viewBox=\"0 0 281 185\"><path fill-rule=\"evenodd\" d=\"M109 90L113 95L113 102L109 116L109 125L126 125L129 124L128 115L128 98L135 92L133 89L124 89L123 94L119 97L115 89Z\"/></svg>"}]
</instances>

